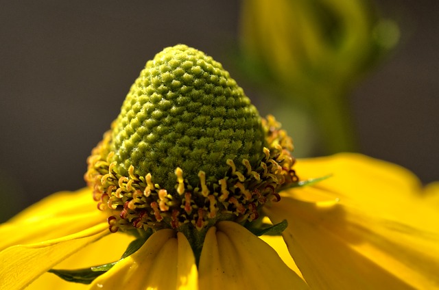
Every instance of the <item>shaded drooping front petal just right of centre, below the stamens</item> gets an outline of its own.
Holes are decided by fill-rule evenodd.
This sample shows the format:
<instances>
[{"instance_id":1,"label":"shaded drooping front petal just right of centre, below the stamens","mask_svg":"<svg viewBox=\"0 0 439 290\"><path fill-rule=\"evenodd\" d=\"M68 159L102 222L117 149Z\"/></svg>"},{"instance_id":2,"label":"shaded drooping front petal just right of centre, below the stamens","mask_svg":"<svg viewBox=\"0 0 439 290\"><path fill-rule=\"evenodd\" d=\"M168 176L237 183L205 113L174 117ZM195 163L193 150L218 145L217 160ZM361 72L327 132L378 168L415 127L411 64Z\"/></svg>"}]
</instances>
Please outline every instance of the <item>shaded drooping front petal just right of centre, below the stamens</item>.
<instances>
[{"instance_id":1,"label":"shaded drooping front petal just right of centre, below the stamens","mask_svg":"<svg viewBox=\"0 0 439 290\"><path fill-rule=\"evenodd\" d=\"M199 272L200 289L307 289L267 243L235 222L209 228Z\"/></svg>"}]
</instances>

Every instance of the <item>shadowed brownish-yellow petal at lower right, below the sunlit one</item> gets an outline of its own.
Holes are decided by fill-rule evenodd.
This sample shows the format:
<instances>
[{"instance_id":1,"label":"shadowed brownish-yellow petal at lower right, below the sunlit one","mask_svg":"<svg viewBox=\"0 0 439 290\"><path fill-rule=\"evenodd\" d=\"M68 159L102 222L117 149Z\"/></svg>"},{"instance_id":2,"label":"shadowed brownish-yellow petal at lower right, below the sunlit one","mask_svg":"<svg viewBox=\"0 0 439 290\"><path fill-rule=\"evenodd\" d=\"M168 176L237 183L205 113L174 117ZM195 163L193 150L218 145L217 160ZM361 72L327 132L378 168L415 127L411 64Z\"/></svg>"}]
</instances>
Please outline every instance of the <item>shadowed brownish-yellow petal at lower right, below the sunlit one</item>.
<instances>
[{"instance_id":1,"label":"shadowed brownish-yellow petal at lower right, below the sunlit one","mask_svg":"<svg viewBox=\"0 0 439 290\"><path fill-rule=\"evenodd\" d=\"M420 235L398 221L380 219L373 209L364 213L341 203L328 207L284 196L265 212L274 223L287 219L283 237L312 288L438 286L438 235Z\"/></svg>"}]
</instances>

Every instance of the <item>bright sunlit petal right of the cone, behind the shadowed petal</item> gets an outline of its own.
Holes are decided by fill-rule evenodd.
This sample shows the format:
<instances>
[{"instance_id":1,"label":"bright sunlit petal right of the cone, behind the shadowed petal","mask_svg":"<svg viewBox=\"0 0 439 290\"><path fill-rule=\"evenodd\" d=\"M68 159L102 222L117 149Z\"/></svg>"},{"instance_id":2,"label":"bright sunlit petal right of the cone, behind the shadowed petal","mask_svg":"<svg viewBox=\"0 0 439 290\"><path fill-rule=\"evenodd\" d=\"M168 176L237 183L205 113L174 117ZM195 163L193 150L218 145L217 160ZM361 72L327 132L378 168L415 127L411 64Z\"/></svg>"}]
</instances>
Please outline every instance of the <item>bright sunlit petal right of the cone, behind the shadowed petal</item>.
<instances>
[{"instance_id":1,"label":"bright sunlit petal right of the cone, behind the shadowed petal","mask_svg":"<svg viewBox=\"0 0 439 290\"><path fill-rule=\"evenodd\" d=\"M395 194L402 198L412 197L415 192L420 192L421 187L420 181L409 170L354 153L298 159L294 167L302 180L330 175L328 179L313 185L316 189L324 189L317 193L322 198L348 198L349 202L355 201L360 205L373 200L383 211L393 207L389 207L389 204L399 202L394 200ZM314 198L314 195L309 197L300 191L291 193L300 200L313 201L311 198ZM405 203L405 200L401 203Z\"/></svg>"}]
</instances>

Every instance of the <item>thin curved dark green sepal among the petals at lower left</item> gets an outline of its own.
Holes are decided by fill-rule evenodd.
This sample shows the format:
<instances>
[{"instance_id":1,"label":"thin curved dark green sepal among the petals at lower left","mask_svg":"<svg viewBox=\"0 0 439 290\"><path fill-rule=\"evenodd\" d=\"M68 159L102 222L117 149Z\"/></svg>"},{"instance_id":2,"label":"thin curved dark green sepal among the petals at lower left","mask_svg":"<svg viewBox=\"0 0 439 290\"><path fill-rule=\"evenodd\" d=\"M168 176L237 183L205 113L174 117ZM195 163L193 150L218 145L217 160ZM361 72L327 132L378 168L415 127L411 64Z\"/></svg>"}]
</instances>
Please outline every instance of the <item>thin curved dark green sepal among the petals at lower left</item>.
<instances>
[{"instance_id":1,"label":"thin curved dark green sepal among the petals at lower left","mask_svg":"<svg viewBox=\"0 0 439 290\"><path fill-rule=\"evenodd\" d=\"M141 246L143 246L143 243L152 235L152 230L147 231L147 235L145 237L141 237L138 239L134 239L128 247L126 248L125 252L123 252L121 259L116 262L94 266L94 267L87 267L84 269L74 269L74 270L67 270L67 269L49 269L49 273L53 273L56 276L62 278L63 280L66 280L68 282L76 282L76 283L82 283L82 284L90 284L95 280L95 278L101 276L105 272L107 272L109 269L111 269L114 265L125 259L127 256L130 256L131 254L134 254Z\"/></svg>"}]
</instances>

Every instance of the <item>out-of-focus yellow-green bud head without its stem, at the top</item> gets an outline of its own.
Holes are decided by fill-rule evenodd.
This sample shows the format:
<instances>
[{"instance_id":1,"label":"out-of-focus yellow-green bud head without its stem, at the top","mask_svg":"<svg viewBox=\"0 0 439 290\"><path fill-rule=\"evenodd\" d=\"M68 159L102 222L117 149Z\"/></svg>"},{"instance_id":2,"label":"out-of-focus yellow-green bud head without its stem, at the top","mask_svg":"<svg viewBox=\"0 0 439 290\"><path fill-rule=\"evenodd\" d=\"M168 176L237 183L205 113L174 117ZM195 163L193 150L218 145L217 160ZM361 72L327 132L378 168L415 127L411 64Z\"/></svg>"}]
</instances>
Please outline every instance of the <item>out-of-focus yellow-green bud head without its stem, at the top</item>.
<instances>
[{"instance_id":1,"label":"out-of-focus yellow-green bud head without its stem, at the top","mask_svg":"<svg viewBox=\"0 0 439 290\"><path fill-rule=\"evenodd\" d=\"M392 25L376 15L372 4L364 0L244 1L241 45L250 57L263 62L278 83L291 83L297 98L313 101L318 96L309 96L310 92L339 90L396 44L395 24L385 34L392 43L383 44L383 25Z\"/></svg>"}]
</instances>

